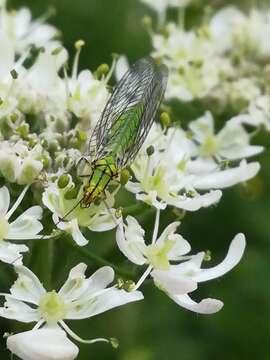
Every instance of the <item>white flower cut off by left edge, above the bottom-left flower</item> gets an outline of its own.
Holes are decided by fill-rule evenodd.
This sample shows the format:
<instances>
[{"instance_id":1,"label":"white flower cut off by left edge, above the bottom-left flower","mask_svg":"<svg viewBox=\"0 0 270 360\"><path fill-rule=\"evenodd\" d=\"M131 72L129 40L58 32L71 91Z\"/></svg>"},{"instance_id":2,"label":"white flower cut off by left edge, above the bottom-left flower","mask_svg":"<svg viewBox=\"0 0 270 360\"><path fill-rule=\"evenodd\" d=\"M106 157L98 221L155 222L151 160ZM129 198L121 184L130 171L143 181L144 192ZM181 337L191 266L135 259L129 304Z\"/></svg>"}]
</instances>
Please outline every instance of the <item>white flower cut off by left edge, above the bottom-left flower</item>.
<instances>
[{"instance_id":1,"label":"white flower cut off by left edge, above the bottom-left flower","mask_svg":"<svg viewBox=\"0 0 270 360\"><path fill-rule=\"evenodd\" d=\"M38 239L37 235L43 228L40 223L42 209L40 206L32 206L16 220L10 221L11 216L21 204L28 187L22 191L13 206L10 206L10 195L4 186L0 188L0 260L6 263L21 264L22 252L28 251L25 245L12 244L13 240Z\"/></svg>"}]
</instances>

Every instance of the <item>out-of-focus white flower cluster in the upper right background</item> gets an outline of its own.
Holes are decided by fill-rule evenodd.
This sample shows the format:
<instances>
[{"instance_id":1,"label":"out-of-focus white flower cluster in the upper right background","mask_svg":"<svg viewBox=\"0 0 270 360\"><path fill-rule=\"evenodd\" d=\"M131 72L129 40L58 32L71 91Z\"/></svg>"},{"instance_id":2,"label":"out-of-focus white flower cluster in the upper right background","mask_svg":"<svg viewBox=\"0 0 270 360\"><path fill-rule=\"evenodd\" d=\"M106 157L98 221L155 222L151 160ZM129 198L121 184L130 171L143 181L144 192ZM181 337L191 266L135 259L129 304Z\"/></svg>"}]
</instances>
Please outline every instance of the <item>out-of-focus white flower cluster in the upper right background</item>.
<instances>
[{"instance_id":1,"label":"out-of-focus white flower cluster in the upper right background","mask_svg":"<svg viewBox=\"0 0 270 360\"><path fill-rule=\"evenodd\" d=\"M236 114L269 102L269 9L228 6L193 28L169 22L150 33L152 55L170 70L167 99L199 99Z\"/></svg>"}]
</instances>

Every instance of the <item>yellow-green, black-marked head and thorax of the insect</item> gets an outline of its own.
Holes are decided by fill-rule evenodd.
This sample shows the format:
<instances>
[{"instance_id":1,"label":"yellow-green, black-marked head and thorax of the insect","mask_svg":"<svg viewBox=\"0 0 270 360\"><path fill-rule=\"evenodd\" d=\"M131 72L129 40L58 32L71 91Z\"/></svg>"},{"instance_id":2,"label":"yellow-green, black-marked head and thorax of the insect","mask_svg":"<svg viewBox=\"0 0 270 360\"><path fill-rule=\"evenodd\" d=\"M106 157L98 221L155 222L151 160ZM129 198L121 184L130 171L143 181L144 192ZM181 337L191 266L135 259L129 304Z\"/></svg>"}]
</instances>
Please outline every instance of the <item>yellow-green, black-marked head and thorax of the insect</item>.
<instances>
[{"instance_id":1,"label":"yellow-green, black-marked head and thorax of the insect","mask_svg":"<svg viewBox=\"0 0 270 360\"><path fill-rule=\"evenodd\" d=\"M112 156L94 160L92 163L92 174L88 185L85 187L84 197L81 201L82 206L90 206L95 200L99 199L113 178L118 175L115 159Z\"/></svg>"}]
</instances>

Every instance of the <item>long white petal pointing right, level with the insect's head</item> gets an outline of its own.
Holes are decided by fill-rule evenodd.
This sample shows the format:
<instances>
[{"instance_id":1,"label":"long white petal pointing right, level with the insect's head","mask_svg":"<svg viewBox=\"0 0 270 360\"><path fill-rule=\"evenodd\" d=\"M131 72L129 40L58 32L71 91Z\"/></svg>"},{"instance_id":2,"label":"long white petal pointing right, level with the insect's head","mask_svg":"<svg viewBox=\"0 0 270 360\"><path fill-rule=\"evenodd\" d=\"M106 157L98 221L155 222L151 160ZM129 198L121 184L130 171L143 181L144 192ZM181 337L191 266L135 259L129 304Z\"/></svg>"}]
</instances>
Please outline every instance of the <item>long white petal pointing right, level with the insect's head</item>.
<instances>
[{"instance_id":1,"label":"long white petal pointing right, level with the insect's head","mask_svg":"<svg viewBox=\"0 0 270 360\"><path fill-rule=\"evenodd\" d=\"M201 190L224 189L253 178L259 170L258 162L247 164L245 160L242 160L240 166L236 168L201 176L193 182L193 186Z\"/></svg>"}]
</instances>

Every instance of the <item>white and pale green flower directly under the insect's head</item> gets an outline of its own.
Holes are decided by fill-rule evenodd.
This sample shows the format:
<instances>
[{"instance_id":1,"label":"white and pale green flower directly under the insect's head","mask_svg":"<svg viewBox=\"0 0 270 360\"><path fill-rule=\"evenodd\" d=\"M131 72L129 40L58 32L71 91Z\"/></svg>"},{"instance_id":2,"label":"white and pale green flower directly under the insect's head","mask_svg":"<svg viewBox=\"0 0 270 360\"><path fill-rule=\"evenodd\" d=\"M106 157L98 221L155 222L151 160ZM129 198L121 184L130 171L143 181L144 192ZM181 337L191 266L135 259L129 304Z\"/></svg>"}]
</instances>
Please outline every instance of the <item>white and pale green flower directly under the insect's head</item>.
<instances>
[{"instance_id":1,"label":"white and pale green flower directly under the insect's head","mask_svg":"<svg viewBox=\"0 0 270 360\"><path fill-rule=\"evenodd\" d=\"M107 231L117 225L113 215L115 210L112 208L114 195L107 193L106 204L110 207L109 210L104 202L101 202L100 205L91 204L89 208L82 208L80 200L83 197L83 187L80 188L75 198L68 199L66 196L70 190L74 189L74 186L70 177L64 188L59 188L57 182L50 183L43 193L42 200L53 213L56 226L60 230L68 232L79 246L84 246L88 240L82 234L80 227L87 227L92 231Z\"/></svg>"}]
</instances>

